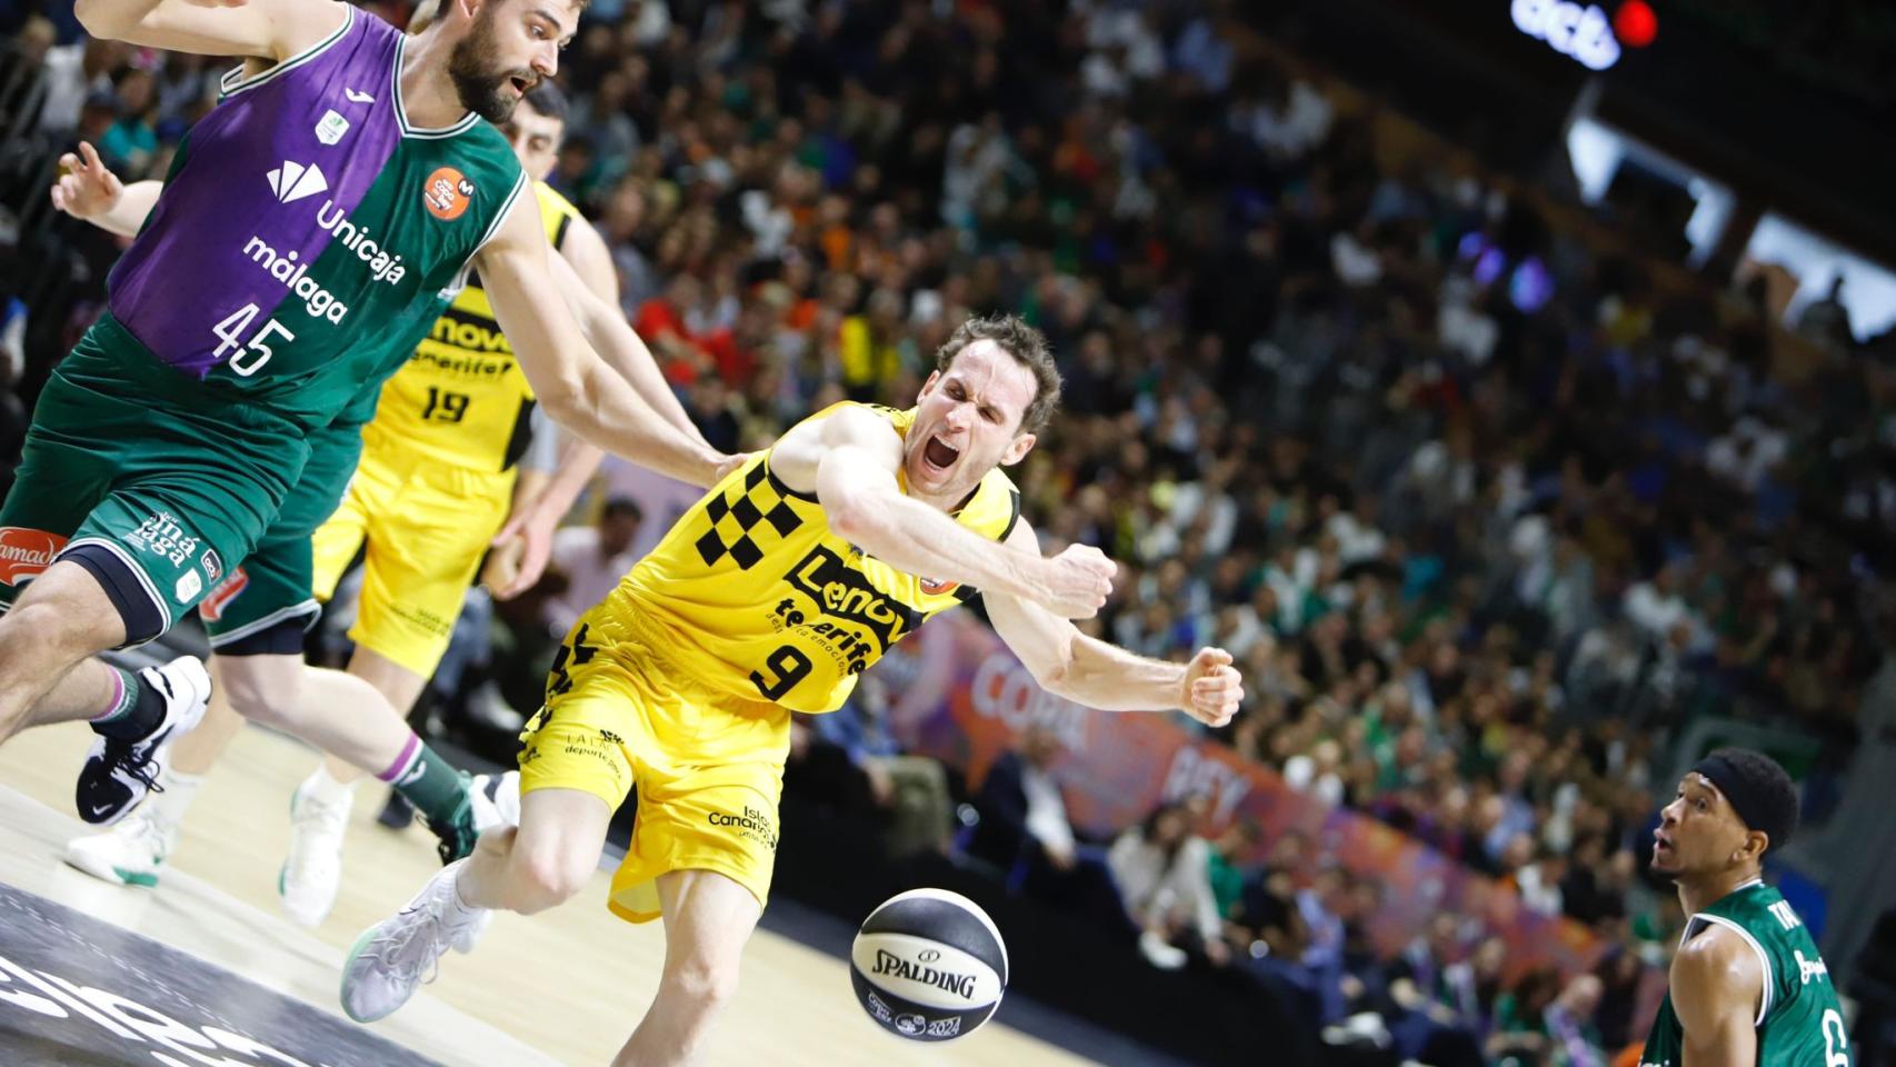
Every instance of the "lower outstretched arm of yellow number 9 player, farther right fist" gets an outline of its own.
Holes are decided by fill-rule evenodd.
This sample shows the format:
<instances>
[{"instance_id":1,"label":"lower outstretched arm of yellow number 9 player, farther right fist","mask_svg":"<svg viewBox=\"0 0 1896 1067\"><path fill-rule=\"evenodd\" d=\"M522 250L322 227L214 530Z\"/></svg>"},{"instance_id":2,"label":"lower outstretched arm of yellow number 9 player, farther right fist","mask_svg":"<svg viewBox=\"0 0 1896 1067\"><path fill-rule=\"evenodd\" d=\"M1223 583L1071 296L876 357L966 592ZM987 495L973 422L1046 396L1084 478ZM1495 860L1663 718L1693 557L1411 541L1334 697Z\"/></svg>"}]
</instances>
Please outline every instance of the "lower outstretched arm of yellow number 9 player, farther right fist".
<instances>
[{"instance_id":1,"label":"lower outstretched arm of yellow number 9 player, farther right fist","mask_svg":"<svg viewBox=\"0 0 1896 1067\"><path fill-rule=\"evenodd\" d=\"M1007 540L1039 550L1026 521L1014 523ZM982 589L982 601L994 631L1033 680L1073 703L1098 711L1179 709L1208 726L1225 726L1244 699L1244 678L1223 648L1200 648L1189 663L1166 663L1086 637L1031 599Z\"/></svg>"}]
</instances>

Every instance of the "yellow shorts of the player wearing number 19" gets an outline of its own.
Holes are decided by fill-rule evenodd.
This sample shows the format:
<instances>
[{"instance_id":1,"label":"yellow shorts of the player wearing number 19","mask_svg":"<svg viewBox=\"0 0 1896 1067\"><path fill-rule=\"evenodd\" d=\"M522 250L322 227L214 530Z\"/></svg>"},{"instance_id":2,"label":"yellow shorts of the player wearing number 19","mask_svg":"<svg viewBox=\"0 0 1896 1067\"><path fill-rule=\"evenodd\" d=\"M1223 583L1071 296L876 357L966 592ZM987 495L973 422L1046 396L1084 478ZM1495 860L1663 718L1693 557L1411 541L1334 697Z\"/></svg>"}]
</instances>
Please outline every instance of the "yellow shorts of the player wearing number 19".
<instances>
[{"instance_id":1,"label":"yellow shorts of the player wearing number 19","mask_svg":"<svg viewBox=\"0 0 1896 1067\"><path fill-rule=\"evenodd\" d=\"M315 593L328 601L366 542L349 639L427 678L512 508L514 472L447 466L364 436L370 443L349 491L311 542Z\"/></svg>"}]
</instances>

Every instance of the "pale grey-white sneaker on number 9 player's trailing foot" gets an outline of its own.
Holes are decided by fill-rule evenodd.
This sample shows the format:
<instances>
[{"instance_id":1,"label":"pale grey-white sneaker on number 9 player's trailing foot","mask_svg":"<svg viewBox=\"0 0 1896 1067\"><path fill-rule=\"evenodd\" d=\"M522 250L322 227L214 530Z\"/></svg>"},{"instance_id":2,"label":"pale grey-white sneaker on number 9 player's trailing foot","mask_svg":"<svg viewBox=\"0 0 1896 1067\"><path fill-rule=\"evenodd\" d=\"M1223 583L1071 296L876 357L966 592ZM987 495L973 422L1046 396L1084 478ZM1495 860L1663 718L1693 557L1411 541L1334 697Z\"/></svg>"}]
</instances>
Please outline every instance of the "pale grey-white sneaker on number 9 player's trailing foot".
<instances>
[{"instance_id":1,"label":"pale grey-white sneaker on number 9 player's trailing foot","mask_svg":"<svg viewBox=\"0 0 1896 1067\"><path fill-rule=\"evenodd\" d=\"M423 982L440 974L447 946L480 921L483 908L466 908L455 895L455 876L466 860L444 866L392 919L356 938L343 959L343 1012L358 1023L394 1014Z\"/></svg>"}]
</instances>

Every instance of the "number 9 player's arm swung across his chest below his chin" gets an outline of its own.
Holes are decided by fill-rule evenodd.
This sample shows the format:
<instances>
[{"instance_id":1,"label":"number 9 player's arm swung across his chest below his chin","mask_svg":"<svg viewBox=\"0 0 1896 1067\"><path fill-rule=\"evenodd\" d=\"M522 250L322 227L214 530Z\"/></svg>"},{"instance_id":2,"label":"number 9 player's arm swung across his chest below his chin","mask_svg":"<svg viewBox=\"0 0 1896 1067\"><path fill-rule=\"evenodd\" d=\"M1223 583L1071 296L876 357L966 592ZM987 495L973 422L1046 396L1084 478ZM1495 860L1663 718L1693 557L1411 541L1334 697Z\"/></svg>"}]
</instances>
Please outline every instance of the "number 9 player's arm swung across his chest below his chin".
<instances>
[{"instance_id":1,"label":"number 9 player's arm swung across his chest below his chin","mask_svg":"<svg viewBox=\"0 0 1896 1067\"><path fill-rule=\"evenodd\" d=\"M830 527L876 559L937 580L1001 589L1088 618L1113 591L1113 561L1094 550L1045 559L995 544L902 495L902 438L880 415L844 407L802 423L770 451L770 470L815 493ZM1092 555L1086 555L1090 552Z\"/></svg>"}]
</instances>

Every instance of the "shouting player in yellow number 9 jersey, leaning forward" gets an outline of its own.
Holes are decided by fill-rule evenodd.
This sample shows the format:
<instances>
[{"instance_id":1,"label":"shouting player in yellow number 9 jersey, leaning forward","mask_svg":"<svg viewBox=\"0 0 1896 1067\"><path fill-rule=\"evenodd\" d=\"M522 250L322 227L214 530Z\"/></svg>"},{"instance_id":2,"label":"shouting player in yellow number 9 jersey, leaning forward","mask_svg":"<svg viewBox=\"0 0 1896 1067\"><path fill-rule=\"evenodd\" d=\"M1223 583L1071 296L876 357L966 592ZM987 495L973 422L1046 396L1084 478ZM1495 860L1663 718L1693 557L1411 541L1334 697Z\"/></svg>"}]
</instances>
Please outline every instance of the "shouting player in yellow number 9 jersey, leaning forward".
<instances>
[{"instance_id":1,"label":"shouting player in yellow number 9 jersey, leaning forward","mask_svg":"<svg viewBox=\"0 0 1896 1067\"><path fill-rule=\"evenodd\" d=\"M489 830L343 967L343 1010L377 1020L487 910L540 912L592 876L637 787L611 908L665 919L658 997L620 1065L690 1061L738 982L777 845L791 713L844 703L857 677L935 612L975 595L1041 686L1096 709L1231 720L1231 656L1134 656L1081 635L1115 565L1045 557L1001 466L1058 404L1045 339L1018 318L965 322L916 407L838 404L720 479L573 627L523 733L518 830Z\"/></svg>"}]
</instances>

